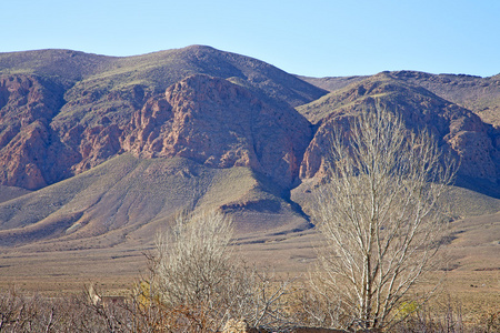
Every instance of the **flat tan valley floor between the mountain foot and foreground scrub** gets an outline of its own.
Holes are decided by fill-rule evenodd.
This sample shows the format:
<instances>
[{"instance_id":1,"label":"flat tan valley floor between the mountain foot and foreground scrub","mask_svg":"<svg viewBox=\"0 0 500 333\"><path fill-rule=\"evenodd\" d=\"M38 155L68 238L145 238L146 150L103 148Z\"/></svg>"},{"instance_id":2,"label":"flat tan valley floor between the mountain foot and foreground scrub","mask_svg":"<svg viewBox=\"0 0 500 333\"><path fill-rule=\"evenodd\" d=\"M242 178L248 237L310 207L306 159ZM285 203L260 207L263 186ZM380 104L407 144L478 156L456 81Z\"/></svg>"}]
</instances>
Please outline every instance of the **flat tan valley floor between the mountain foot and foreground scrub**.
<instances>
[{"instance_id":1,"label":"flat tan valley floor between the mountain foot and foreground scrub","mask_svg":"<svg viewBox=\"0 0 500 333\"><path fill-rule=\"evenodd\" d=\"M442 302L460 303L463 314L500 309L500 213L451 222L453 240L447 245L448 271L429 275L441 281ZM314 229L237 239L237 252L248 264L277 273L301 275L313 268L320 235ZM148 273L144 253L153 244L121 244L109 249L59 252L0 253L0 290L39 292L46 295L79 293L97 283L104 294L127 294Z\"/></svg>"}]
</instances>

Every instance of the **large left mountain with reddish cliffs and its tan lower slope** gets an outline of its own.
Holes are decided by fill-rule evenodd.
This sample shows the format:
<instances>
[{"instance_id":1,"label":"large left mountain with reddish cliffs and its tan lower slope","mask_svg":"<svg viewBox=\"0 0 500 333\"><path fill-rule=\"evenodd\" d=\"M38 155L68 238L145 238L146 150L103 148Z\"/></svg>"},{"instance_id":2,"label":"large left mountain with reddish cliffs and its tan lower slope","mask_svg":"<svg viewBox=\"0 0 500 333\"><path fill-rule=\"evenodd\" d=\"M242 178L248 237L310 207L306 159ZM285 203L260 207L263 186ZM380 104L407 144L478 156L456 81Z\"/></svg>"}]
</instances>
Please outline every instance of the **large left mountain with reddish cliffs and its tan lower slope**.
<instances>
[{"instance_id":1,"label":"large left mountain with reddish cliffs and its tan lower slope","mask_svg":"<svg viewBox=\"0 0 500 333\"><path fill-rule=\"evenodd\" d=\"M151 241L186 209L223 210L240 232L309 228L287 199L312 138L292 107L323 90L198 46L0 65L0 246Z\"/></svg>"}]
</instances>

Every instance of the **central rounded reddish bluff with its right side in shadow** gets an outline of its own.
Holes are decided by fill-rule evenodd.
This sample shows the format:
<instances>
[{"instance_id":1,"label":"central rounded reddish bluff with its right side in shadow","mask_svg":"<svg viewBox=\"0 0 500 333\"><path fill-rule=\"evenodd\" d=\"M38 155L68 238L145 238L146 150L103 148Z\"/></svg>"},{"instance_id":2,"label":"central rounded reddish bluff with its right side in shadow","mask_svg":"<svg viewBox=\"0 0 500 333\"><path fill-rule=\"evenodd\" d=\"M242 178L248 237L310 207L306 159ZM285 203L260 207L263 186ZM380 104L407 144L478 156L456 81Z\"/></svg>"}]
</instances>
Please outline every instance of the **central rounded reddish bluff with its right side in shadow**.
<instances>
[{"instance_id":1,"label":"central rounded reddish bluff with its right side in shadow","mask_svg":"<svg viewBox=\"0 0 500 333\"><path fill-rule=\"evenodd\" d=\"M122 134L124 151L182 157L212 168L249 167L290 186L312 138L309 122L223 79L193 75L150 100Z\"/></svg>"}]
</instances>

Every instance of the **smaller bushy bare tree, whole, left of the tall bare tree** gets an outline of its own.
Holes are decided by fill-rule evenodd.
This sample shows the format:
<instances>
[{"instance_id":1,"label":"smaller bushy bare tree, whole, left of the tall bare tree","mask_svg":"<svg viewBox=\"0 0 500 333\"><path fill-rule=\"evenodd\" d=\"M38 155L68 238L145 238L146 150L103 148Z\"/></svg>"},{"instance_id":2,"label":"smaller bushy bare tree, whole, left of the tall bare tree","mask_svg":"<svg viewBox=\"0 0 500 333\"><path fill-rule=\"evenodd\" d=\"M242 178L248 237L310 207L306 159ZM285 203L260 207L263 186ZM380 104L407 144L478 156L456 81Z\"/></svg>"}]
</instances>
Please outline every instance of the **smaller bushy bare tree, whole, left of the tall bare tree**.
<instances>
[{"instance_id":1,"label":"smaller bushy bare tree, whole, left of the tall bare tree","mask_svg":"<svg viewBox=\"0 0 500 333\"><path fill-rule=\"evenodd\" d=\"M171 331L208 332L226 317L224 296L232 287L231 220L222 213L180 213L172 229L159 233L151 295L172 315Z\"/></svg>"}]
</instances>

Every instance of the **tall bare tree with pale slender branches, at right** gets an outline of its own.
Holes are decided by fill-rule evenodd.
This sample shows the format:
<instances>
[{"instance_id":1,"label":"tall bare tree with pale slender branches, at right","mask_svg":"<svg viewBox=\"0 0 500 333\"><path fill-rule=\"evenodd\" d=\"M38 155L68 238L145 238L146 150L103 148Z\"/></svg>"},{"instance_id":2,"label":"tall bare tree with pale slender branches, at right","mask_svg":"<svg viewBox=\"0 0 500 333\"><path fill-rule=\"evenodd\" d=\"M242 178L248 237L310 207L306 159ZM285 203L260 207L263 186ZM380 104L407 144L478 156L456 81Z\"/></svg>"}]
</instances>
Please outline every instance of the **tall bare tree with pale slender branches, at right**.
<instances>
[{"instance_id":1,"label":"tall bare tree with pale slender branches, at right","mask_svg":"<svg viewBox=\"0 0 500 333\"><path fill-rule=\"evenodd\" d=\"M439 200L456 168L429 132L408 130L389 111L344 120L313 218L327 242L321 281L339 296L342 325L369 331L394 322L437 258Z\"/></svg>"}]
</instances>

